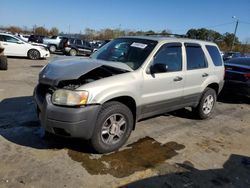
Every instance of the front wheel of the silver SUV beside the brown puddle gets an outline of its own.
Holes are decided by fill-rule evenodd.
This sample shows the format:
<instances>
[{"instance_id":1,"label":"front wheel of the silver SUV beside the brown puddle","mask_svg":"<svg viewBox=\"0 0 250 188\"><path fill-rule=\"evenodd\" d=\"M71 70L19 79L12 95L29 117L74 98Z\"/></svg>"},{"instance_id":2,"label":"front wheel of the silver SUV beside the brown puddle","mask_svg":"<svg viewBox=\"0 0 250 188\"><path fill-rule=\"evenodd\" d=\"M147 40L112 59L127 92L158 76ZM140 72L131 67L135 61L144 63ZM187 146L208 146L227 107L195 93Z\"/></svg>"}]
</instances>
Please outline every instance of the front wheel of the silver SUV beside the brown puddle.
<instances>
[{"instance_id":1,"label":"front wheel of the silver SUV beside the brown puddle","mask_svg":"<svg viewBox=\"0 0 250 188\"><path fill-rule=\"evenodd\" d=\"M90 140L93 149L98 153L119 149L129 138L133 122L133 114L126 105L116 101L105 103Z\"/></svg>"}]
</instances>

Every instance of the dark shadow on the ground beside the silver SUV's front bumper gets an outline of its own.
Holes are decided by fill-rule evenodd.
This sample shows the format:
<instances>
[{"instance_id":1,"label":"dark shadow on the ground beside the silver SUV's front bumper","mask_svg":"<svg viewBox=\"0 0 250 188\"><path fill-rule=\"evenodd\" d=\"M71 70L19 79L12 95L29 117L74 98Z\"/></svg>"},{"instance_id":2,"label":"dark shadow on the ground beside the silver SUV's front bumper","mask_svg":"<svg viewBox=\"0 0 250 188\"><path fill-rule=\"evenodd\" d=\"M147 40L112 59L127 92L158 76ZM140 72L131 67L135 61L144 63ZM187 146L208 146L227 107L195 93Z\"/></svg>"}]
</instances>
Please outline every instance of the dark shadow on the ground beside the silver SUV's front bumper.
<instances>
[{"instance_id":1,"label":"dark shadow on the ground beside the silver SUV's front bumper","mask_svg":"<svg viewBox=\"0 0 250 188\"><path fill-rule=\"evenodd\" d=\"M84 140L45 134L31 96L2 100L0 120L0 135L15 144L36 149L68 148L85 153L93 152Z\"/></svg>"}]
</instances>

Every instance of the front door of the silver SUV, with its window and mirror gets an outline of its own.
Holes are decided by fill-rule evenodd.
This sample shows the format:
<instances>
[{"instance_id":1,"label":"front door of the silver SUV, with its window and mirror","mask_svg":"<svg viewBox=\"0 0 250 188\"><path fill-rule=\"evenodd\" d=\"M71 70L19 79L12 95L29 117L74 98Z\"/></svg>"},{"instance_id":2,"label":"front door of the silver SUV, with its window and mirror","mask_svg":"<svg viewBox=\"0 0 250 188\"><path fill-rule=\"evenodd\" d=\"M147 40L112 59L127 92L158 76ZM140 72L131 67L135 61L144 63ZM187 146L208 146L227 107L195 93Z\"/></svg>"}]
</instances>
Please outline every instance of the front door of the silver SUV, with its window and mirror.
<instances>
[{"instance_id":1,"label":"front door of the silver SUV, with its window and mirror","mask_svg":"<svg viewBox=\"0 0 250 188\"><path fill-rule=\"evenodd\" d=\"M164 113L182 106L185 81L182 44L164 44L154 56L150 67L150 73L144 73L142 117Z\"/></svg>"}]
</instances>

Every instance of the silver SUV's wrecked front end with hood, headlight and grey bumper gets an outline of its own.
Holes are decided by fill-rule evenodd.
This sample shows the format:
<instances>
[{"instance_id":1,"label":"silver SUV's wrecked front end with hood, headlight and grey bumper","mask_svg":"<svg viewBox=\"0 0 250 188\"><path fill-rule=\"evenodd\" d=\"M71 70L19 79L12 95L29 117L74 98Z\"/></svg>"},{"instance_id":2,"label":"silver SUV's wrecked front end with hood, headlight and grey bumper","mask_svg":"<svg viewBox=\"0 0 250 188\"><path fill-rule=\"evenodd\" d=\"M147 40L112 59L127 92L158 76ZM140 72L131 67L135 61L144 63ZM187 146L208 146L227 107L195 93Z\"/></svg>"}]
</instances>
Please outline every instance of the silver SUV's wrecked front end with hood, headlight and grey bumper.
<instances>
[{"instance_id":1,"label":"silver SUV's wrecked front end with hood, headlight and grey bumper","mask_svg":"<svg viewBox=\"0 0 250 188\"><path fill-rule=\"evenodd\" d=\"M124 68L122 68L124 67ZM88 91L78 87L129 72L124 65L109 66L90 59L56 60L39 74L34 90L37 115L46 131L60 136L89 139L100 105L88 105Z\"/></svg>"}]
</instances>

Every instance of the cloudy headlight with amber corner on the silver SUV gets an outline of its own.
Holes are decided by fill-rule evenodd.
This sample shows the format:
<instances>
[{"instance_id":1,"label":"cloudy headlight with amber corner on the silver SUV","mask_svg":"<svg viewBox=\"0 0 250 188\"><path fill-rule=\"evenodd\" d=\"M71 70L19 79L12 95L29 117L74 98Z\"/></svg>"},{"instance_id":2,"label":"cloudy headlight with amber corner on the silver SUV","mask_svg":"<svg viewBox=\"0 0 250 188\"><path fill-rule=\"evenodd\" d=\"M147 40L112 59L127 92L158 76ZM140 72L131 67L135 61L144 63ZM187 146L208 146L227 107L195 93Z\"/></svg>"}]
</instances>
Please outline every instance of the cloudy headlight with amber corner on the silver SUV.
<instances>
[{"instance_id":1,"label":"cloudy headlight with amber corner on the silver SUV","mask_svg":"<svg viewBox=\"0 0 250 188\"><path fill-rule=\"evenodd\" d=\"M52 95L52 103L64 106L85 105L88 101L87 91L58 89Z\"/></svg>"}]
</instances>

